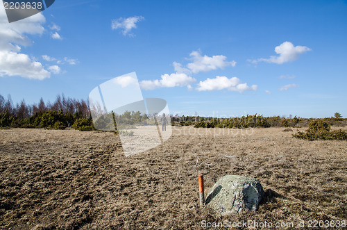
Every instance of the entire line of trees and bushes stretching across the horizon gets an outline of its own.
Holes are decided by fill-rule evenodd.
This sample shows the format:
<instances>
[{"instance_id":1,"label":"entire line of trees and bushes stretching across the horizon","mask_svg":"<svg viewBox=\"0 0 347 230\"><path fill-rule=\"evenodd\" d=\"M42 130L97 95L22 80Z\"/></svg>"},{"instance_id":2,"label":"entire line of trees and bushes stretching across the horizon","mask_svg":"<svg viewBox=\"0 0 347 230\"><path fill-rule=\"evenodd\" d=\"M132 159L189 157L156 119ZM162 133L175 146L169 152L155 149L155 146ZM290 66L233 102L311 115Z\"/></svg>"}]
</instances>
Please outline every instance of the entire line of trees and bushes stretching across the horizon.
<instances>
[{"instance_id":1,"label":"entire line of trees and bushes stretching across the horizon","mask_svg":"<svg viewBox=\"0 0 347 230\"><path fill-rule=\"evenodd\" d=\"M342 118L340 113L335 113L335 117L321 118L330 125L345 126L347 119ZM303 127L308 126L313 118L301 117L264 117L262 115L246 115L242 117L200 117L171 115L171 124L174 126L194 125L196 128L231 128L243 129L248 127ZM117 122L116 122L117 120ZM101 115L94 121L97 129L115 130L115 125L148 125L155 121L151 115L139 113L139 111L126 111L122 115L108 113ZM13 104L10 95L5 99L0 95L0 127L20 127L20 128L44 128L44 129L66 129L71 127L81 131L94 130L91 109L87 101L81 99L71 99L65 95L58 95L51 103L44 103L41 98L37 104L28 105L24 99L19 104Z\"/></svg>"}]
</instances>

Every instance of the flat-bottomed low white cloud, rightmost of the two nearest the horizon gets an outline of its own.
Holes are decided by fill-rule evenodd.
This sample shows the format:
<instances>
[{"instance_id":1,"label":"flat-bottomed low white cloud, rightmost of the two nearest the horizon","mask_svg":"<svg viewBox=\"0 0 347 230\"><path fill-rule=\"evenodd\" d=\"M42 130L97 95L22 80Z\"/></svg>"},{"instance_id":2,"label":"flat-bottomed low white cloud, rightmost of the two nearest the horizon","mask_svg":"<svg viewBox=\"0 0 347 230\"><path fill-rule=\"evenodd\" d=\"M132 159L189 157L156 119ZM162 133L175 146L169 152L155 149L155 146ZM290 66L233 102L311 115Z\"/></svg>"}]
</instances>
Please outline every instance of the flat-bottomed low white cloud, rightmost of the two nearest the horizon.
<instances>
[{"instance_id":1,"label":"flat-bottomed low white cloud, rightmost of the two nearest the horizon","mask_svg":"<svg viewBox=\"0 0 347 230\"><path fill-rule=\"evenodd\" d=\"M198 83L198 91L212 91L212 90L230 90L236 92L244 92L246 90L257 90L257 85L249 87L247 83L240 83L237 77L228 79L226 76L217 76L215 79L206 79Z\"/></svg>"}]
</instances>

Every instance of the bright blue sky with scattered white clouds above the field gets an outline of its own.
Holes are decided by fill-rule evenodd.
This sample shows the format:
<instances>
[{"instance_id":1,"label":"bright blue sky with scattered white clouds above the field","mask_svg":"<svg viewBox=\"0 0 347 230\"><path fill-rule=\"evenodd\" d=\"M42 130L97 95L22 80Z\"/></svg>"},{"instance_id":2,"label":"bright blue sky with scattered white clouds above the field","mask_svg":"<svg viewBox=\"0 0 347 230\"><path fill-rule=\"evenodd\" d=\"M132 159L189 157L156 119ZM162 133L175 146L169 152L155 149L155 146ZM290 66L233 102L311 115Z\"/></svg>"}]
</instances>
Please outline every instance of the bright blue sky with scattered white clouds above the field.
<instances>
[{"instance_id":1,"label":"bright blue sky with scattered white clouds above the field","mask_svg":"<svg viewBox=\"0 0 347 230\"><path fill-rule=\"evenodd\" d=\"M1 5L0 38L15 103L136 72L174 114L347 116L346 1L56 1L11 24Z\"/></svg>"}]
</instances>

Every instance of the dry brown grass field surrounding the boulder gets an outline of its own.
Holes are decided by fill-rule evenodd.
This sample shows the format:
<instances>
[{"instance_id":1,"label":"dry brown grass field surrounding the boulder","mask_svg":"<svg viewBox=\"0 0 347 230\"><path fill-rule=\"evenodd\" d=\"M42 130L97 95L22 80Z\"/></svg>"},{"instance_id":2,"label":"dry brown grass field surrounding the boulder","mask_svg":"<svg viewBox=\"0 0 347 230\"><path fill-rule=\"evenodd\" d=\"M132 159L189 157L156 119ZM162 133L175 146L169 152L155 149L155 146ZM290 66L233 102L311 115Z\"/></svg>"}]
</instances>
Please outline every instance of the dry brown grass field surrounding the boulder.
<instances>
[{"instance_id":1,"label":"dry brown grass field surrounding the boulder","mask_svg":"<svg viewBox=\"0 0 347 230\"><path fill-rule=\"evenodd\" d=\"M347 142L298 140L296 129L283 129L174 127L164 145L128 157L113 133L0 130L0 228L201 229L203 220L253 220L291 229L346 220ZM198 173L206 193L223 175L253 176L265 198L256 212L219 217L199 206Z\"/></svg>"}]
</instances>

